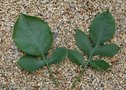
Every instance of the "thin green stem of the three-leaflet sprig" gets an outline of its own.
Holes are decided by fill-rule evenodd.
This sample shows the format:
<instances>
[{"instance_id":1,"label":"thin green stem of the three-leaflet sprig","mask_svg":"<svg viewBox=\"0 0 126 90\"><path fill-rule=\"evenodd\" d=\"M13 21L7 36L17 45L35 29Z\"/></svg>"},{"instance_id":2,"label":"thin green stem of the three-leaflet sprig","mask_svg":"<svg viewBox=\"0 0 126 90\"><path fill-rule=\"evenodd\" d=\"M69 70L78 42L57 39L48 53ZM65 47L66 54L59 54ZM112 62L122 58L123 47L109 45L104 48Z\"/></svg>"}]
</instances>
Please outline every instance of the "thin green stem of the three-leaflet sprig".
<instances>
[{"instance_id":1,"label":"thin green stem of the three-leaflet sprig","mask_svg":"<svg viewBox=\"0 0 126 90\"><path fill-rule=\"evenodd\" d=\"M44 59L46 65L47 65L48 71L49 71L49 73L50 73L50 76L51 76L52 79L53 79L53 82L55 83L56 86L59 86L59 83L58 83L58 81L56 80L56 78L54 77L54 75L53 75L53 73L52 73L52 69L50 68L50 65L48 64L47 59L46 59L46 57L44 56L43 53L42 53L42 58Z\"/></svg>"}]
</instances>

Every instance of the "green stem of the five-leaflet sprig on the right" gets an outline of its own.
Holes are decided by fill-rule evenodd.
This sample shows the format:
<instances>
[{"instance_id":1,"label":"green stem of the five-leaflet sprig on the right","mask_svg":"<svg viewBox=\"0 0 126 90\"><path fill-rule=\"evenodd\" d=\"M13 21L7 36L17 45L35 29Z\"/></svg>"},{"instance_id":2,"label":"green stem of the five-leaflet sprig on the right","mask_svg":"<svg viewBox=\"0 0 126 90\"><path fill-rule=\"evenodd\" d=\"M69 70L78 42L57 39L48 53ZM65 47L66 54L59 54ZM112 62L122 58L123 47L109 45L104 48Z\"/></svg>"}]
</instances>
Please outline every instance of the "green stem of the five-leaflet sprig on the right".
<instances>
[{"instance_id":1,"label":"green stem of the five-leaflet sprig on the right","mask_svg":"<svg viewBox=\"0 0 126 90\"><path fill-rule=\"evenodd\" d=\"M94 51L96 50L98 44L94 47L94 49L92 50L90 56L89 56L89 59L88 61L86 62L85 66L83 67L83 70L80 71L80 74L77 76L76 80L74 80L74 82L72 83L72 86L71 86L71 90L76 86L77 82L81 79L81 77L83 76L83 73L85 71L85 69L87 68L89 62L92 60L92 56L93 56L93 53Z\"/></svg>"}]
</instances>

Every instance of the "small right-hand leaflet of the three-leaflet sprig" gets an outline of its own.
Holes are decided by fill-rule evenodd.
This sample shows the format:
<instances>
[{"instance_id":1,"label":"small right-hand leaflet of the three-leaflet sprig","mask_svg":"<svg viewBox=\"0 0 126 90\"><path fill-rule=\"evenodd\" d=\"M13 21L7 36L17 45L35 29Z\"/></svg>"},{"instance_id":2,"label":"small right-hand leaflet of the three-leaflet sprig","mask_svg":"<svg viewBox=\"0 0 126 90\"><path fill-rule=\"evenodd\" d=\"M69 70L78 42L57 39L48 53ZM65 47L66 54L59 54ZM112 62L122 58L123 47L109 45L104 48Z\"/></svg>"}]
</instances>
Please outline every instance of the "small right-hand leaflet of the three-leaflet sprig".
<instances>
[{"instance_id":1,"label":"small right-hand leaflet of the three-leaflet sprig","mask_svg":"<svg viewBox=\"0 0 126 90\"><path fill-rule=\"evenodd\" d=\"M67 56L66 48L63 47L56 48L52 53L52 55L50 56L50 58L48 59L48 64L59 63L62 60L64 60L66 56Z\"/></svg>"}]
</instances>

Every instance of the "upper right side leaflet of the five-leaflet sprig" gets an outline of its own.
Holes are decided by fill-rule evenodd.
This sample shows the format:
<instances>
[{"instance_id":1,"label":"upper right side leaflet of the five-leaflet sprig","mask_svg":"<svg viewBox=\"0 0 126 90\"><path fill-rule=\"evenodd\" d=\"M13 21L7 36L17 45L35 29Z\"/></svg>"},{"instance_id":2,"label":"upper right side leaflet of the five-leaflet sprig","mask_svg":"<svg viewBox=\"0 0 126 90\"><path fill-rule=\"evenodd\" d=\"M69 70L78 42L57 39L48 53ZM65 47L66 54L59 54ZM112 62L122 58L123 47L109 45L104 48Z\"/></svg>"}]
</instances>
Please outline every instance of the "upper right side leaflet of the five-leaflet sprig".
<instances>
[{"instance_id":1,"label":"upper right side leaflet of the five-leaflet sprig","mask_svg":"<svg viewBox=\"0 0 126 90\"><path fill-rule=\"evenodd\" d=\"M98 46L94 52L94 55L113 56L114 54L117 54L119 49L120 48L116 44L106 44L103 46Z\"/></svg>"}]
</instances>

